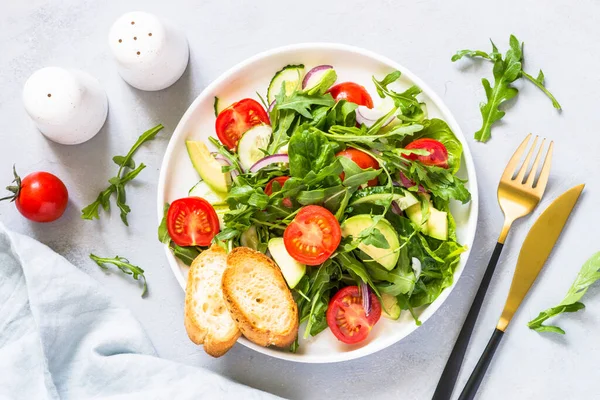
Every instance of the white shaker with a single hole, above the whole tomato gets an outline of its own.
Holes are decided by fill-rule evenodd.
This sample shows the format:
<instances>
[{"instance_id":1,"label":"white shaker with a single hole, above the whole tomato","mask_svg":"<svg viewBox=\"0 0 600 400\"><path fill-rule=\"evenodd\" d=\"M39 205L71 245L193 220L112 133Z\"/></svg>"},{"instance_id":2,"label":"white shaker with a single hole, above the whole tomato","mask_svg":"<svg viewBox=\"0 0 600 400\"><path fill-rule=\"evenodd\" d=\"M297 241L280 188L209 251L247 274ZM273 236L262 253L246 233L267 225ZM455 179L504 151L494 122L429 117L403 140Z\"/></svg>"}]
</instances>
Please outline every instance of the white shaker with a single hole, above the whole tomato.
<instances>
[{"instance_id":1,"label":"white shaker with a single hole, above the whole tomato","mask_svg":"<svg viewBox=\"0 0 600 400\"><path fill-rule=\"evenodd\" d=\"M34 72L23 88L23 103L44 136L60 144L90 140L108 114L106 92L94 77L59 67Z\"/></svg>"}]
</instances>

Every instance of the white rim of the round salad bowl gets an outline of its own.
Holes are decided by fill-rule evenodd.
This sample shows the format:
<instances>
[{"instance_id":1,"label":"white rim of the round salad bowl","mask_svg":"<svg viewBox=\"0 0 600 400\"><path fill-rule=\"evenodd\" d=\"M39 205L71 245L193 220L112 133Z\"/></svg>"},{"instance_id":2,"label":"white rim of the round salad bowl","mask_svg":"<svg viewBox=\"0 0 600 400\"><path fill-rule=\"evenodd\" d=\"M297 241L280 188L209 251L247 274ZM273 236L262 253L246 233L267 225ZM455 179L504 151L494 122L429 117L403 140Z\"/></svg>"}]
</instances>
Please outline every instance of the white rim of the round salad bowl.
<instances>
[{"instance_id":1,"label":"white rim of the round salad bowl","mask_svg":"<svg viewBox=\"0 0 600 400\"><path fill-rule=\"evenodd\" d=\"M404 76L408 77L408 79L410 81L412 81L414 84L419 86L421 88L421 90L423 91L423 93L425 93L431 99L431 101L436 104L436 106L439 108L441 114L444 117L444 121L450 126L450 128L452 129L452 131L454 132L454 134L456 135L458 140L463 145L463 159L464 159L465 167L466 167L468 175L469 175L469 187L470 187L470 191L471 191L471 202L468 205L470 207L469 219L468 219L467 230L466 230L466 234L465 234L466 240L462 243L463 245L467 246L467 251L465 251L465 253L463 253L461 255L461 261L460 261L456 271L454 272L454 281L453 281L452 285L450 287L447 287L446 289L444 289L444 291L438 296L438 298L435 299L435 301L433 303L429 304L426 307L426 309L423 311L423 313L421 314L420 319L421 319L422 325L423 325L441 307L441 305L446 301L446 299L448 298L450 293L452 293L452 291L456 287L458 280L462 276L462 273L463 273L463 271L467 265L467 262L469 260L471 248L473 246L473 241L475 239L475 233L477 230L477 223L478 223L478 218L479 218L479 195L478 195L477 175L476 175L476 171L475 171L475 164L473 162L473 157L471 155L471 151L468 146L466 137L464 136L458 122L454 118L454 115L450 112L450 109L446 106L446 104L438 96L438 94L435 91L433 91L433 89L431 89L429 87L429 85L427 85L423 80L421 80L421 78L419 78L412 71L410 71L409 69L404 67L402 64L400 64L396 61L393 61L392 59L390 59L386 56L382 56L382 55L372 52L370 50L366 50L366 49L363 49L363 48L360 48L357 46L352 46L352 45L347 45L347 44L326 43L326 42L307 42L307 43L298 43L298 44L291 44L291 45L276 47L276 48L273 48L270 50L260 52L252 57L249 57L249 58L239 62L238 64L234 65L233 67L229 68L227 71L222 73L218 78L216 78L208 86L206 86L202 90L202 92L196 97L196 99L194 99L192 104L188 107L186 112L183 114L183 116L179 120L177 127L173 131L173 135L169 139L169 144L167 146L165 155L161 162L160 176L159 176L159 180L158 180L158 190L157 190L158 222L160 223L162 221L163 214L164 214L165 185L166 185L166 180L167 180L167 172L166 172L166 168L164 168L164 167L168 163L169 159L172 157L172 153L175 149L176 144L180 142L179 138L184 134L183 127L186 125L187 121L191 118L191 115L196 111L196 109L198 108L200 103L205 101L205 97L209 93L212 93L213 89L215 87L220 86L225 81L227 81L232 75L245 69L249 65L251 65L255 62L258 62L262 59L269 58L269 57L272 57L272 56L275 56L275 55L278 55L281 53L295 52L295 51L300 51L300 50L320 50L320 51L335 50L335 51L344 51L344 52L354 53L359 56L374 59L375 61L378 61L382 64L390 66L390 68L394 68L394 69L401 71ZM176 260L175 256L172 254L168 245L164 245L164 250L167 255L167 260L169 262L169 267L171 268L171 271L175 275L175 278L179 282L182 289L185 291L185 280L181 273L178 261ZM259 353L262 353L262 354L265 354L268 356L272 356L275 358L279 358L282 360L301 362L301 363L324 364L324 363L349 361L349 360L367 356L369 354L376 353L376 352L383 350L383 349L399 342L400 340L406 338L411 333L416 331L417 328L419 328L419 327L420 326L417 326L415 324L411 329L408 329L408 331L402 336L390 335L387 338L387 340L372 342L371 344L361 347L359 349L355 349L355 350L345 352L345 353L328 355L326 357L314 356L314 355L300 355L300 354L295 354L295 353L283 352L280 350L273 350L273 349L270 349L267 347L258 346L256 344L250 342L243 336L240 337L238 342L240 342L241 344L243 344L244 346L246 346L250 349L256 350Z\"/></svg>"}]
</instances>

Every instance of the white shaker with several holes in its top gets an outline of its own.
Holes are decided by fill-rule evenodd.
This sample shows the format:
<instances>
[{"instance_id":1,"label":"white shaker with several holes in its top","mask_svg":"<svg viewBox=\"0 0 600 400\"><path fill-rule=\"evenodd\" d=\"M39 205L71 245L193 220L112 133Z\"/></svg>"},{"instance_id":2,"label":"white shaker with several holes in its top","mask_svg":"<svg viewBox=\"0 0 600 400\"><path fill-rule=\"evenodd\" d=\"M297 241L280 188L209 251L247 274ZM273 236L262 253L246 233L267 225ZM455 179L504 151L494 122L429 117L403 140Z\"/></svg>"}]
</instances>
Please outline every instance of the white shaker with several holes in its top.
<instances>
[{"instance_id":1,"label":"white shaker with several holes in its top","mask_svg":"<svg viewBox=\"0 0 600 400\"><path fill-rule=\"evenodd\" d=\"M183 32L153 14L123 14L108 37L119 74L135 88L167 88L183 75L188 64L190 53Z\"/></svg>"}]
</instances>

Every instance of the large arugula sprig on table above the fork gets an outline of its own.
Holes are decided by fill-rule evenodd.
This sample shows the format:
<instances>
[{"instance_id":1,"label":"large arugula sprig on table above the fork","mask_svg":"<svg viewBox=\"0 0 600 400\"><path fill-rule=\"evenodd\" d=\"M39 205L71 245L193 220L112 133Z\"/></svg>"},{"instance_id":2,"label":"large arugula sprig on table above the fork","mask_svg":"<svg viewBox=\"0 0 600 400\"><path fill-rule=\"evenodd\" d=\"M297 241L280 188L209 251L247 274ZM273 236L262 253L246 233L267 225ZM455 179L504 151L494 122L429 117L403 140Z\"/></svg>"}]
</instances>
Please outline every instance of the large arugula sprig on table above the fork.
<instances>
[{"instance_id":1,"label":"large arugula sprig on table above the fork","mask_svg":"<svg viewBox=\"0 0 600 400\"><path fill-rule=\"evenodd\" d=\"M509 44L510 49L506 52L504 58L502 58L502 55L498 52L498 48L494 42L492 42L491 53L486 53L481 50L460 50L452 56L452 61L460 60L463 57L480 57L494 63L494 86L492 87L486 78L481 80L485 89L487 103L481 103L480 105L483 123L481 128L475 132L475 140L480 142L487 142L491 138L492 125L502 119L506 114L504 111L500 110L499 107L518 94L519 91L511 86L511 84L523 76L550 98L554 108L561 109L556 98L544 86L544 74L542 71L540 70L537 78L533 78L523 71L523 43L520 43L514 35L510 35Z\"/></svg>"}]
</instances>

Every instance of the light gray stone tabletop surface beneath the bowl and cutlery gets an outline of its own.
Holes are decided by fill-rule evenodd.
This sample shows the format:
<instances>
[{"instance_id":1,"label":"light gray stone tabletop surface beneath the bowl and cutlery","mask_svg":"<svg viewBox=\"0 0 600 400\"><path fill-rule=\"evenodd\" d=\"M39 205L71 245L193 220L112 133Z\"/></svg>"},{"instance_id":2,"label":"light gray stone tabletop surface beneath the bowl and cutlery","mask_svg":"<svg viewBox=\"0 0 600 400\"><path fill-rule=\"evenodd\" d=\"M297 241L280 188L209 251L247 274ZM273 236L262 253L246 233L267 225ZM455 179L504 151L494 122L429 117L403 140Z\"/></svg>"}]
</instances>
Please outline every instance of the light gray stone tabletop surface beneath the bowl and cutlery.
<instances>
[{"instance_id":1,"label":"light gray stone tabletop surface beneath the bowl and cutlery","mask_svg":"<svg viewBox=\"0 0 600 400\"><path fill-rule=\"evenodd\" d=\"M107 45L108 29L120 14L144 10L175 21L188 35L191 57L172 87L141 92L117 74ZM93 276L131 307L159 354L205 367L232 379L293 399L427 399L474 296L499 232L502 214L496 186L504 165L527 132L552 138L556 151L542 206L575 184L587 188L559 246L510 326L481 399L600 398L600 286L587 308L557 321L565 336L538 334L526 327L537 312L562 299L580 265L597 250L597 177L600 136L600 5L572 1L49 1L0 0L0 182L11 166L21 174L48 170L60 176L71 204L59 221L40 225L0 204L9 228L48 244ZM480 79L491 75L481 63L450 62L453 51L488 49L488 38L506 48L510 33L526 42L527 69L542 67L549 88L564 106L559 114L535 87L518 83L520 95L508 105L504 122L486 145L475 143ZM466 271L448 301L427 323L396 345L360 360L303 365L273 359L238 345L212 359L194 346L182 324L183 292L156 240L156 185L162 156L177 121L195 96L226 69L257 52L290 43L341 42L379 52L405 65L441 95L468 136L478 170L481 198L477 239ZM36 69L80 68L105 87L110 111L103 130L78 146L47 141L27 117L21 89ZM145 129L162 122L160 137L136 156L148 168L128 191L130 228L118 215L82 221L79 210L94 200L114 171L111 157L125 152ZM535 215L538 215L541 208ZM466 381L502 309L520 244L533 218L517 223L489 289L460 375ZM129 257L147 271L150 293L118 274L100 271L90 252Z\"/></svg>"}]
</instances>

